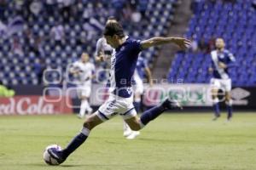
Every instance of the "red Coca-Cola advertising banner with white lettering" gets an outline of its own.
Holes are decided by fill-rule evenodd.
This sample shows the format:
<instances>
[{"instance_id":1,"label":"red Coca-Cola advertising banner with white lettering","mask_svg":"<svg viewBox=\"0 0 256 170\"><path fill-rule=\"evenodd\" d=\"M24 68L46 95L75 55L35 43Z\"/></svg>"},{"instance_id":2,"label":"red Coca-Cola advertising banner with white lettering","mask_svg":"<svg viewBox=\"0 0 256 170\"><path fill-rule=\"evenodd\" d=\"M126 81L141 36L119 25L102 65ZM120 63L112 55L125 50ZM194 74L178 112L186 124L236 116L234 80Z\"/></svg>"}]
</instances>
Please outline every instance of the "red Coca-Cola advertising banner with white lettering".
<instances>
[{"instance_id":1,"label":"red Coca-Cola advertising banner with white lettering","mask_svg":"<svg viewBox=\"0 0 256 170\"><path fill-rule=\"evenodd\" d=\"M67 96L15 96L0 98L0 115L71 114L71 99Z\"/></svg>"}]
</instances>

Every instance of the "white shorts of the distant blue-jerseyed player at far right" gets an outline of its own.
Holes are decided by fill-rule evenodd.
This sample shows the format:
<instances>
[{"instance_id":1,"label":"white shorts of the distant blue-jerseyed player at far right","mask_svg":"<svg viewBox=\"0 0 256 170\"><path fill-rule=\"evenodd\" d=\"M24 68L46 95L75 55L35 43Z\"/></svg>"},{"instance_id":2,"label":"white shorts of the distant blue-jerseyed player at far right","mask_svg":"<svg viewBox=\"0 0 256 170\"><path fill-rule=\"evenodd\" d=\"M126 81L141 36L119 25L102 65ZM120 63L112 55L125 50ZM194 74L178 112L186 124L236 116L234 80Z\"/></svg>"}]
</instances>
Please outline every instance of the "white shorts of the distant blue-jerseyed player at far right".
<instances>
[{"instance_id":1,"label":"white shorts of the distant blue-jerseyed player at far right","mask_svg":"<svg viewBox=\"0 0 256 170\"><path fill-rule=\"evenodd\" d=\"M230 92L231 91L231 79L218 79L218 78L212 78L211 79L211 87L212 88L218 88L224 90L224 92Z\"/></svg>"}]
</instances>

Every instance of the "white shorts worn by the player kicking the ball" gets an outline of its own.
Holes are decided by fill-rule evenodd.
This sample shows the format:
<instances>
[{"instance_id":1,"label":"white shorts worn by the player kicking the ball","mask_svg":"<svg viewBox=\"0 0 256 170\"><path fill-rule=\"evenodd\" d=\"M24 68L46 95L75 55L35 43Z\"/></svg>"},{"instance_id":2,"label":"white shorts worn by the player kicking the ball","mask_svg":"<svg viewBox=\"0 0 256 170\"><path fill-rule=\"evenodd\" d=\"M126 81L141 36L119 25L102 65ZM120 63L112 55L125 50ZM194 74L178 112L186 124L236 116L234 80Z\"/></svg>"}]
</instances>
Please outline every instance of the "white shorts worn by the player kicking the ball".
<instances>
[{"instance_id":1,"label":"white shorts worn by the player kicking the ball","mask_svg":"<svg viewBox=\"0 0 256 170\"><path fill-rule=\"evenodd\" d=\"M133 96L122 98L114 94L109 94L109 98L97 111L97 116L103 121L108 121L113 116L120 115L124 120L137 116L137 112L132 104Z\"/></svg>"}]
</instances>

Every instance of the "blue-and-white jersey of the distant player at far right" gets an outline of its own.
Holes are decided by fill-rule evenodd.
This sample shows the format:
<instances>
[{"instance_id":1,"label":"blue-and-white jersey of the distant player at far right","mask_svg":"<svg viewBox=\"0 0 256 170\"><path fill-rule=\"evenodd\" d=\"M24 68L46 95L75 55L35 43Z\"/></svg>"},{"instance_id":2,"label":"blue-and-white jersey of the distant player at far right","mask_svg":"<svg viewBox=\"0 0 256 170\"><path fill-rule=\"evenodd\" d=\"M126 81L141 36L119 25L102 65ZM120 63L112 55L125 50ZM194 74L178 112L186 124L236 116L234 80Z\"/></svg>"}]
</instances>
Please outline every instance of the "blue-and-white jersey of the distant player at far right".
<instances>
[{"instance_id":1,"label":"blue-and-white jersey of the distant player at far right","mask_svg":"<svg viewBox=\"0 0 256 170\"><path fill-rule=\"evenodd\" d=\"M236 66L236 59L229 50L224 49L223 51L213 50L212 55L212 69L213 77L218 79L229 79L229 68ZM222 69L218 66L218 62L223 62L227 65L226 69Z\"/></svg>"}]
</instances>

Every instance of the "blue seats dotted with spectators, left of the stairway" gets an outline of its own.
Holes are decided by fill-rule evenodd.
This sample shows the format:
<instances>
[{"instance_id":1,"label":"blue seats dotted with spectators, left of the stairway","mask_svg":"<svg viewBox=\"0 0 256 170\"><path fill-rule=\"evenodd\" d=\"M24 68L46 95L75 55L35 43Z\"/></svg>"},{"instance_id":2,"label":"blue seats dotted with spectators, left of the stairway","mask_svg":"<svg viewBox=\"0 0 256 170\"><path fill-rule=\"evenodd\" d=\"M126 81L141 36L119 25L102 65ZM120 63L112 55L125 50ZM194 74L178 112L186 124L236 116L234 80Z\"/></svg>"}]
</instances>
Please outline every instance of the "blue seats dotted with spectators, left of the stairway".
<instances>
[{"instance_id":1,"label":"blue seats dotted with spectators, left of the stairway","mask_svg":"<svg viewBox=\"0 0 256 170\"><path fill-rule=\"evenodd\" d=\"M49 8L43 4L40 14L28 14L26 8L20 12L15 1L1 8L1 18L5 25L16 16L20 16L25 24L22 31L10 37L0 37L0 79L3 84L38 84L38 62L43 61L42 67L59 69L65 72L67 64L79 58L82 52L92 57L96 48L96 40L102 36L102 28L108 16L115 14L111 0L77 0L73 4L76 15L66 18L57 8ZM40 2L40 1L38 1ZM96 2L96 7L95 3ZM114 0L111 1L114 3ZM125 2L125 1L120 1ZM138 23L121 19L126 33L130 37L148 38L164 36L172 20L173 4L177 0L143 0L137 4L137 12L142 12ZM54 10L52 10L54 9ZM95 12L95 10L98 10ZM88 15L84 14L85 13ZM86 16L84 16L86 15ZM26 17L24 17L26 16ZM4 20L3 20L4 19ZM95 22L96 21L96 22ZM62 42L56 42L50 31L56 24L63 26ZM17 39L22 53L13 51ZM38 46L37 46L38 45ZM36 47L34 47L36 46ZM36 48L36 49L35 49ZM151 48L143 53L149 63L154 61L157 48ZM48 77L52 79L54 77Z\"/></svg>"}]
</instances>

